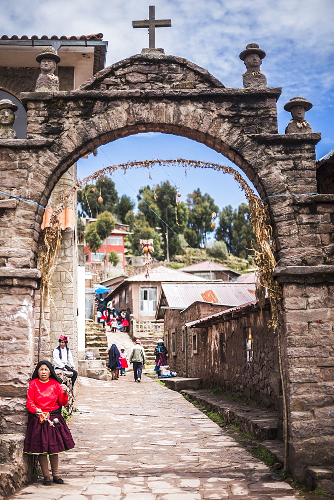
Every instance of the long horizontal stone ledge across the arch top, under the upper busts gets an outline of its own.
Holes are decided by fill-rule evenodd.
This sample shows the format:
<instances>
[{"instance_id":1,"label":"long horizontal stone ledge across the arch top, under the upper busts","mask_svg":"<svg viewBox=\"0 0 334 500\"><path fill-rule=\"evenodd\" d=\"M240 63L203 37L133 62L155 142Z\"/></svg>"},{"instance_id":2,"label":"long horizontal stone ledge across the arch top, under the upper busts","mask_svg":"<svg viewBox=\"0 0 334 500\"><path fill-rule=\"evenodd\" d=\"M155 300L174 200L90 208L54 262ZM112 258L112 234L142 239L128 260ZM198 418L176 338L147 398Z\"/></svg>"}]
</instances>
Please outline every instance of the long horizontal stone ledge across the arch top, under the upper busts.
<instances>
[{"instance_id":1,"label":"long horizontal stone ledge across the arch top, under the upper busts","mask_svg":"<svg viewBox=\"0 0 334 500\"><path fill-rule=\"evenodd\" d=\"M71 90L59 92L21 92L23 104L28 101L47 101L52 99L99 99L114 100L119 98L146 98L146 97L171 97L171 98L189 98L189 97L257 97L281 95L281 87L263 87L256 89L249 88L191 88L191 89L129 89L129 90ZM255 134L255 135L275 135L278 134ZM292 135L310 135L310 134L289 134ZM316 134L317 135L317 134ZM16 139L19 140L19 139ZM31 139L30 139L31 140ZM39 139L36 139L39 140ZM319 138L320 140L320 138Z\"/></svg>"}]
</instances>

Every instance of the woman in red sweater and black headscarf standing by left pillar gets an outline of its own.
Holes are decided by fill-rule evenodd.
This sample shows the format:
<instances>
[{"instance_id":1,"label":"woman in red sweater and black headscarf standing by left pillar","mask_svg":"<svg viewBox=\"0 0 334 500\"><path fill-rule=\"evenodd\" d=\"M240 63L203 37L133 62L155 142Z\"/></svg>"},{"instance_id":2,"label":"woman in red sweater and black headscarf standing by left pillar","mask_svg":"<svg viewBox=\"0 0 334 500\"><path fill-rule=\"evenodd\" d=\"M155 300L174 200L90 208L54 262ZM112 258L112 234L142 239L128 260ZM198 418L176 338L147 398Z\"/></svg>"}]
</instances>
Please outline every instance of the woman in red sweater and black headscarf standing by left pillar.
<instances>
[{"instance_id":1,"label":"woman in red sweater and black headscarf standing by left pillar","mask_svg":"<svg viewBox=\"0 0 334 500\"><path fill-rule=\"evenodd\" d=\"M61 416L61 406L68 402L67 386L60 383L49 361L39 361L29 383L26 407L29 410L23 451L38 455L43 484L51 484L47 455L53 482L63 484L58 475L58 453L74 448L75 444ZM55 421L53 421L55 419Z\"/></svg>"}]
</instances>

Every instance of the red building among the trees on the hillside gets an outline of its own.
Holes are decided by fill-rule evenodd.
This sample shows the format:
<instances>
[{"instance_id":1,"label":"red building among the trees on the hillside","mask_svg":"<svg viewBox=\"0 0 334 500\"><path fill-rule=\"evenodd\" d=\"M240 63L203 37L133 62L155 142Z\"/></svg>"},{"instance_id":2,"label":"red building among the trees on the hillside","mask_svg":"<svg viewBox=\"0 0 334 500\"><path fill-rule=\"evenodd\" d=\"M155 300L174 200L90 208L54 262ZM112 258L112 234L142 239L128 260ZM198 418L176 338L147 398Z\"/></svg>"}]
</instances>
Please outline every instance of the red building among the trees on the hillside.
<instances>
[{"instance_id":1,"label":"red building among the trees on the hillside","mask_svg":"<svg viewBox=\"0 0 334 500\"><path fill-rule=\"evenodd\" d=\"M86 224L94 222L95 220L95 218L87 218ZM128 229L128 225L116 222L115 228L111 231L111 234L105 239L105 241L101 240L101 246L97 252L90 251L89 247L85 245L85 262L97 264L105 260L107 266L112 265L108 262L108 254L110 251L115 251L119 258L119 262L116 267L124 269L124 238L126 234L129 234Z\"/></svg>"}]
</instances>

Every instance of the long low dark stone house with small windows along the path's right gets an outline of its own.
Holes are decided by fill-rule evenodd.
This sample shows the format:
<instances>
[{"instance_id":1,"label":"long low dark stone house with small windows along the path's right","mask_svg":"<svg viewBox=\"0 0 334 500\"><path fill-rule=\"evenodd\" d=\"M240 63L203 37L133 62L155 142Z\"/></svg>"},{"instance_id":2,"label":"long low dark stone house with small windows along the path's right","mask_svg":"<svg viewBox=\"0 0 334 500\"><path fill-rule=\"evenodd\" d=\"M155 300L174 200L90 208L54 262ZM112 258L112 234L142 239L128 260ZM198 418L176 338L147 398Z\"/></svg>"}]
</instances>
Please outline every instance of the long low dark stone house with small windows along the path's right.
<instances>
[{"instance_id":1,"label":"long low dark stone house with small windows along the path's right","mask_svg":"<svg viewBox=\"0 0 334 500\"><path fill-rule=\"evenodd\" d=\"M165 320L165 328L175 337L168 360L171 369L201 377L203 387L219 387L280 410L278 344L268 327L268 299L262 309L253 299L205 317L194 317L189 309L179 315L182 328L175 328L173 318Z\"/></svg>"}]
</instances>

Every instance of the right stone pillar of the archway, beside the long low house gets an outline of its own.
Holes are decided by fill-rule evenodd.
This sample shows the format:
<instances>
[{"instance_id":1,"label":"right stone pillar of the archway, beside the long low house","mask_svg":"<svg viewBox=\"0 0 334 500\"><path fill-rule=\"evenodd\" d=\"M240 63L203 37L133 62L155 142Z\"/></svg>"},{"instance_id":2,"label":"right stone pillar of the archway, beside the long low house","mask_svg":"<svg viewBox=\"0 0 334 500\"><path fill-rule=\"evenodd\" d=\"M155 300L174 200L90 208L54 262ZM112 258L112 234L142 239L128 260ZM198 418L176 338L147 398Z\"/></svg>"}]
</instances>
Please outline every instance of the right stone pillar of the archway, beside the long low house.
<instances>
[{"instance_id":1,"label":"right stone pillar of the archway, beside the long low house","mask_svg":"<svg viewBox=\"0 0 334 500\"><path fill-rule=\"evenodd\" d=\"M303 481L308 466L334 460L334 195L292 201L298 222L294 237L301 245L289 250L296 257L284 258L274 274L283 286L289 466Z\"/></svg>"}]
</instances>

